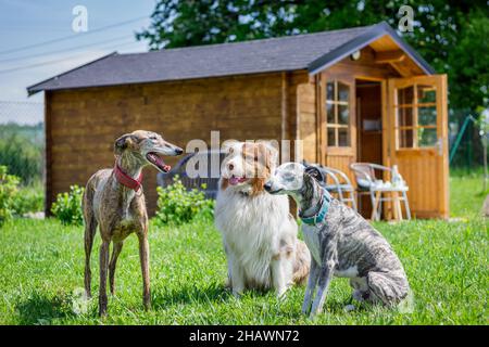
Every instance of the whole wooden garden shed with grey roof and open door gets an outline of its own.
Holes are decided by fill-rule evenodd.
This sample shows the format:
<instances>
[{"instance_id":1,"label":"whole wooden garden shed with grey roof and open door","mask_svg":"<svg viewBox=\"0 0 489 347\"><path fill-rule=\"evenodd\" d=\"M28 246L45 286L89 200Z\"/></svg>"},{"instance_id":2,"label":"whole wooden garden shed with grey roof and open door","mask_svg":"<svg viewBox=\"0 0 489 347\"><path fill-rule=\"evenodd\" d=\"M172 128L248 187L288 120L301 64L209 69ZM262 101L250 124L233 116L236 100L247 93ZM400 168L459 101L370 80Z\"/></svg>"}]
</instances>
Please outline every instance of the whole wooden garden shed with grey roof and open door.
<instances>
[{"instance_id":1,"label":"whole wooden garden shed with grey roof and open door","mask_svg":"<svg viewBox=\"0 0 489 347\"><path fill-rule=\"evenodd\" d=\"M397 164L412 213L447 218L447 77L386 23L237 43L113 53L28 88L45 91L46 206L113 165L116 137L303 140L305 159L351 175ZM174 164L174 163L173 163ZM145 190L154 210L156 172Z\"/></svg>"}]
</instances>

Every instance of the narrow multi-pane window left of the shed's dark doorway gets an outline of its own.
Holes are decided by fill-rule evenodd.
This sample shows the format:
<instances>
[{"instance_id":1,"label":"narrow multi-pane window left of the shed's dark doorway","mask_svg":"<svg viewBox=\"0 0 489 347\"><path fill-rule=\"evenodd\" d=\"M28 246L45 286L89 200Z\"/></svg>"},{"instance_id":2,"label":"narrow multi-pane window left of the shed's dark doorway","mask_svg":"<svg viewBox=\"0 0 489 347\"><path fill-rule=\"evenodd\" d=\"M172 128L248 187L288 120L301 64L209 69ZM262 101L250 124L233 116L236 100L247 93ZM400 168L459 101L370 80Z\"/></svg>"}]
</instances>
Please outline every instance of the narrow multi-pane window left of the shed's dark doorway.
<instances>
[{"instance_id":1,"label":"narrow multi-pane window left of the shed's dark doorway","mask_svg":"<svg viewBox=\"0 0 489 347\"><path fill-rule=\"evenodd\" d=\"M350 86L338 80L326 83L328 146L350 146Z\"/></svg>"}]
</instances>

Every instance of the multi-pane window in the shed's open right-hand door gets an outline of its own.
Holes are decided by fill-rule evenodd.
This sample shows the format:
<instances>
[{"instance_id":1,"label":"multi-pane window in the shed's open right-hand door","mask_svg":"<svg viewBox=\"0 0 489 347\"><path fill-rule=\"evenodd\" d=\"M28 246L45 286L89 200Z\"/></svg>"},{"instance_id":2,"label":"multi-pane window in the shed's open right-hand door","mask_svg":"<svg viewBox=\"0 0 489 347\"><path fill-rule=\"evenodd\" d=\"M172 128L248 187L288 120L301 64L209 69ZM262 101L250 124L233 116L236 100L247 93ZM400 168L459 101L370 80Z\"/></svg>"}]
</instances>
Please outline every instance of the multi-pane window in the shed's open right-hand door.
<instances>
[{"instance_id":1,"label":"multi-pane window in the shed's open right-hand door","mask_svg":"<svg viewBox=\"0 0 489 347\"><path fill-rule=\"evenodd\" d=\"M432 147L437 137L437 104L434 86L413 85L397 90L398 147Z\"/></svg>"}]
</instances>

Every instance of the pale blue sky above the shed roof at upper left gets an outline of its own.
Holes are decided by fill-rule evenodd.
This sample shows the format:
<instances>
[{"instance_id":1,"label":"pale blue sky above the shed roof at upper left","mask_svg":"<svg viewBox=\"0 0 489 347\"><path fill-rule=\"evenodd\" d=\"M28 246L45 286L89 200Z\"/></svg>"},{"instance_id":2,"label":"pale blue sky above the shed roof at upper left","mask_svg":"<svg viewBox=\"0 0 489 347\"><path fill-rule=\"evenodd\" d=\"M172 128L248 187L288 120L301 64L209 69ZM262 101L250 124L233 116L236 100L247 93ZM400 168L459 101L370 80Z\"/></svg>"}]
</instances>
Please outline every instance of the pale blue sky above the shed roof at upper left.
<instances>
[{"instance_id":1,"label":"pale blue sky above the shed roof at upper left","mask_svg":"<svg viewBox=\"0 0 489 347\"><path fill-rule=\"evenodd\" d=\"M84 24L79 12L73 14L78 5L86 9L87 31L73 29L74 22ZM154 5L155 0L0 0L0 123L42 119L43 93L28 98L26 87L114 51L147 51L135 31L150 24Z\"/></svg>"}]
</instances>

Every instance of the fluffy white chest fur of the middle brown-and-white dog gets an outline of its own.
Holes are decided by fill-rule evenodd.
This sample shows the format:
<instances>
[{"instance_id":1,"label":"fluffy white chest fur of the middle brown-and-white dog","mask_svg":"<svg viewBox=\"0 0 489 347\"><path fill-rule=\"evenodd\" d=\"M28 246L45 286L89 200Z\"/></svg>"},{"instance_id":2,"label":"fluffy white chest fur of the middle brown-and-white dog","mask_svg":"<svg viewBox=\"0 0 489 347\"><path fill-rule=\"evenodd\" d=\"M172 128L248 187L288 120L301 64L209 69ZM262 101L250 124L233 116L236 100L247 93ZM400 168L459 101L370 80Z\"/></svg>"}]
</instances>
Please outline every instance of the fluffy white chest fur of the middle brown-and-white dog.
<instances>
[{"instance_id":1,"label":"fluffy white chest fur of the middle brown-and-white dog","mask_svg":"<svg viewBox=\"0 0 489 347\"><path fill-rule=\"evenodd\" d=\"M280 243L297 236L287 196L243 196L231 189L220 191L215 224L223 234L228 257L242 266L249 280L269 286L272 258L284 246Z\"/></svg>"}]
</instances>

